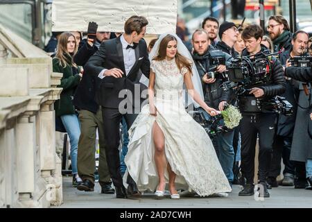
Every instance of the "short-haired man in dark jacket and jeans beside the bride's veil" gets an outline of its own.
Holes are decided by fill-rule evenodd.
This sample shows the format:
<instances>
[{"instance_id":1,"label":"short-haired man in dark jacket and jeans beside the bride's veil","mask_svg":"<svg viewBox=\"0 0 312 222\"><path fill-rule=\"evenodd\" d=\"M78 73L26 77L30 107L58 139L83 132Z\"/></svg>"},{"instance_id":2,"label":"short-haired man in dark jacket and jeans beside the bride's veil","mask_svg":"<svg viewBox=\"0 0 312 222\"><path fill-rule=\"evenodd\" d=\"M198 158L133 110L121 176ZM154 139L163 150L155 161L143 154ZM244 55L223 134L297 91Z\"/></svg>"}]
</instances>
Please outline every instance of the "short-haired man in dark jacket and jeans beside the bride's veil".
<instances>
[{"instance_id":1,"label":"short-haired man in dark jacket and jeans beside the bride's veil","mask_svg":"<svg viewBox=\"0 0 312 222\"><path fill-rule=\"evenodd\" d=\"M212 108L223 110L224 105L227 103L228 96L227 92L220 87L223 80L218 78L218 75L226 71L226 67L225 65L218 65L216 71L213 71L215 74L211 73L211 71L209 72L209 68L211 67L209 59L211 58L211 50L214 50L214 47L209 46L208 34L204 29L197 29L193 33L192 44L194 48L193 60L202 78L205 102ZM220 51L220 53L226 56L227 60L231 58L222 51ZM209 76L211 74L216 75L216 78L211 78L211 76ZM234 163L234 151L232 146L233 132L222 133L211 139L214 142L221 167L231 185L234 177L232 171Z\"/></svg>"}]
</instances>

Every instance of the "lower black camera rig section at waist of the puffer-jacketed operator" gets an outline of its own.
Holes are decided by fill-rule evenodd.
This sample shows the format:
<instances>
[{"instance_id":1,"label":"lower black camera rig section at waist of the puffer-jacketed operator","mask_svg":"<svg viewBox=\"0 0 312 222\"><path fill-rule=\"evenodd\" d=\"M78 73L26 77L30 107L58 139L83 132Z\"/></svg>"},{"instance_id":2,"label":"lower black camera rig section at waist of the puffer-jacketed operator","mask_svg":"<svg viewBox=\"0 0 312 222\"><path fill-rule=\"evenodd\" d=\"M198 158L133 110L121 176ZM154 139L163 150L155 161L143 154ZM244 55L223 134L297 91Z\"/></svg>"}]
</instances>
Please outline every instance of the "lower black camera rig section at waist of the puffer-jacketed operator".
<instances>
[{"instance_id":1,"label":"lower black camera rig section at waist of the puffer-jacketed operator","mask_svg":"<svg viewBox=\"0 0 312 222\"><path fill-rule=\"evenodd\" d=\"M285 116L291 116L293 114L293 105L281 96L275 96L270 99L241 96L239 98L239 107L242 112L276 112Z\"/></svg>"}]
</instances>

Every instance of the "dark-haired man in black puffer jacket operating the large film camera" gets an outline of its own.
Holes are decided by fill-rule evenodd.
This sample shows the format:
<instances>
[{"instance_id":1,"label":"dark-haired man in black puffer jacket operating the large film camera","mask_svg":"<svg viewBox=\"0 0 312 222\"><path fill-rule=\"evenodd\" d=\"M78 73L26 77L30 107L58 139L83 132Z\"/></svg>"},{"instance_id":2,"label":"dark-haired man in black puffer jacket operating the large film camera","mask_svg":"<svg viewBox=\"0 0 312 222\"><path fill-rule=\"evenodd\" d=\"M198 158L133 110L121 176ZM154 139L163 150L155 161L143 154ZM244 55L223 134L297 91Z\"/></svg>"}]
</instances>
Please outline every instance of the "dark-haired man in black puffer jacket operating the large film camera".
<instances>
[{"instance_id":1,"label":"dark-haired man in black puffer jacket operating the large film camera","mask_svg":"<svg viewBox=\"0 0 312 222\"><path fill-rule=\"evenodd\" d=\"M263 52L268 52L266 46L261 44L263 30L260 26L252 24L247 26L242 38L245 42L246 49L242 56L250 56ZM259 184L263 197L270 197L266 186L266 178L270 169L272 159L272 144L275 136L275 113L265 113L262 110L252 108L253 101L256 99L270 99L273 96L284 93L285 79L283 68L276 58L271 58L270 83L253 85L252 88L239 95L239 108L242 112L241 120L241 172L246 179L243 190L239 196L251 196L254 194L254 155L259 134ZM257 106L256 106L257 107ZM250 111L251 110L251 111Z\"/></svg>"}]
</instances>

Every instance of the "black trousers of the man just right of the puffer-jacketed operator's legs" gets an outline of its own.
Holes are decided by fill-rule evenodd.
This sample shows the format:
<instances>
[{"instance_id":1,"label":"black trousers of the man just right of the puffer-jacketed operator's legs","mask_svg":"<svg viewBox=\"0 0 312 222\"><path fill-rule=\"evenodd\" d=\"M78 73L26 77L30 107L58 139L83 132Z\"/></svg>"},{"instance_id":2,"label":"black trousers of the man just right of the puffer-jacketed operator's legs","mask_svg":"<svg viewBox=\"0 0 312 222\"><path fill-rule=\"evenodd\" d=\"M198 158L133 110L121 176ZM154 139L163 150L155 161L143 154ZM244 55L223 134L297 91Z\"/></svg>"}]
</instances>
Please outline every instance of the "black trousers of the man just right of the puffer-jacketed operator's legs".
<instances>
[{"instance_id":1,"label":"black trousers of the man just right of the puffer-jacketed operator's legs","mask_svg":"<svg viewBox=\"0 0 312 222\"><path fill-rule=\"evenodd\" d=\"M269 177L277 178L279 173L281 173L281 158L283 157L283 163L285 165L285 169L283 174L290 173L295 175L295 163L289 158L291 157L291 143L293 142L293 137L283 137L276 135L274 146L273 146L273 154L272 154L272 162L270 166L270 172L268 174Z\"/></svg>"}]
</instances>

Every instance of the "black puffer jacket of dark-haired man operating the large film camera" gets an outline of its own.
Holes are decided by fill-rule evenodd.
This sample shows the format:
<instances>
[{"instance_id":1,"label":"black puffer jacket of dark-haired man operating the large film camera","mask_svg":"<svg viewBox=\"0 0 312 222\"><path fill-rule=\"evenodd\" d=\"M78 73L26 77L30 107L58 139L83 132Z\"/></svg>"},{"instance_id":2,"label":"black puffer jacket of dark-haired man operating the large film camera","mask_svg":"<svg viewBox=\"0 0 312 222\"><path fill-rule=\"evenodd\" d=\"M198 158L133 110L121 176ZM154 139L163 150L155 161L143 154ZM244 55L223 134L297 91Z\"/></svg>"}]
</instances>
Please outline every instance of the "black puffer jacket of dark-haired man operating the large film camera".
<instances>
[{"instance_id":1,"label":"black puffer jacket of dark-haired man operating the large film camera","mask_svg":"<svg viewBox=\"0 0 312 222\"><path fill-rule=\"evenodd\" d=\"M266 46L261 44L261 51L268 51ZM243 50L242 56L249 56L250 54L246 49ZM284 77L284 70L281 66L281 62L277 60L277 58L272 57L271 59L271 67L272 67L272 76L271 76L271 84L258 86L263 89L264 97L272 97L281 95L285 92L286 89L286 80ZM248 95L248 92L247 92ZM252 95L253 96L253 95Z\"/></svg>"}]
</instances>

